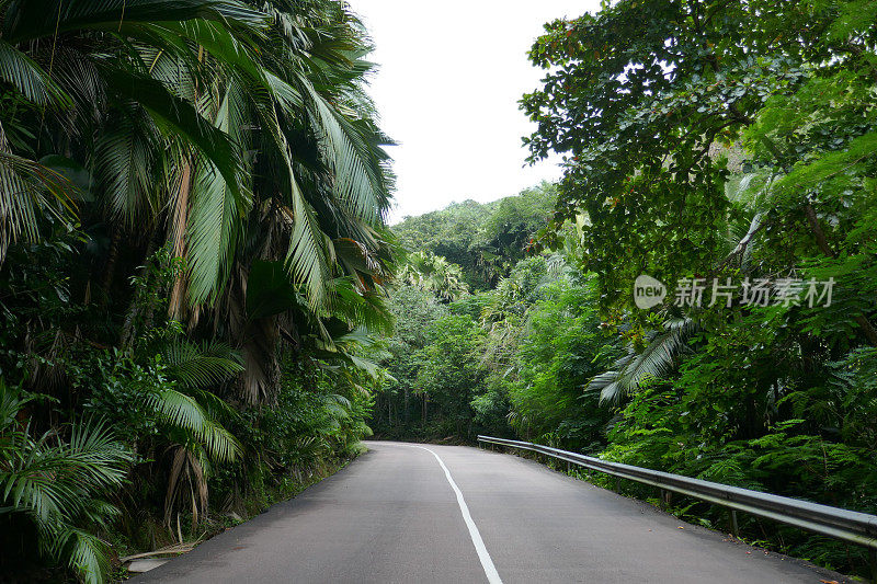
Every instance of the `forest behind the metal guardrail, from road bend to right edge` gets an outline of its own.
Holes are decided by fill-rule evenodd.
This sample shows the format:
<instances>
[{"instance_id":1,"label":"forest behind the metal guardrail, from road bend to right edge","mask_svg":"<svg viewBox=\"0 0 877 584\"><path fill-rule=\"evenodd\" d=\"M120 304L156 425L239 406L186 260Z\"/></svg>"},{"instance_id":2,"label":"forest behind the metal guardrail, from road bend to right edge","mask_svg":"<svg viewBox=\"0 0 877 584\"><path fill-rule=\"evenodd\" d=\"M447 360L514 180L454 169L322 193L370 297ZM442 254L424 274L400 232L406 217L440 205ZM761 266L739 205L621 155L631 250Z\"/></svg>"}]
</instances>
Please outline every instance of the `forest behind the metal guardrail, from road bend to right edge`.
<instances>
[{"instance_id":1,"label":"forest behind the metal guardrail, from road bend to right edge","mask_svg":"<svg viewBox=\"0 0 877 584\"><path fill-rule=\"evenodd\" d=\"M857 0L622 0L548 23L521 106L532 159L563 157L554 213L494 220L514 197L394 226L470 286L395 288L376 432L517 436L877 511L875 16ZM867 573L845 545L743 531Z\"/></svg>"}]
</instances>

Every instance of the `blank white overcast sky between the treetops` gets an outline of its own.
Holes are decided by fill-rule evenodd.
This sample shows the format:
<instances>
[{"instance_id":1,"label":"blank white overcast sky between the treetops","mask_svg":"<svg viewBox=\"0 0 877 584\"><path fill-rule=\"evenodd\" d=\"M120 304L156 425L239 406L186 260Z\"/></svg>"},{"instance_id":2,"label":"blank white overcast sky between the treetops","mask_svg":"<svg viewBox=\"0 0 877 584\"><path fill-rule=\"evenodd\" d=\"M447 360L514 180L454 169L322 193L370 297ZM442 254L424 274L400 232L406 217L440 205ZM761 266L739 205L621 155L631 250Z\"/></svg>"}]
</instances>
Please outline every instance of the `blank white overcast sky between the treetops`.
<instances>
[{"instance_id":1,"label":"blank white overcast sky between the treetops","mask_svg":"<svg viewBox=\"0 0 877 584\"><path fill-rule=\"evenodd\" d=\"M377 46L371 94L398 175L390 222L452 202L513 195L560 176L524 167L532 125L517 100L544 72L526 58L543 24L599 0L349 0Z\"/></svg>"}]
</instances>

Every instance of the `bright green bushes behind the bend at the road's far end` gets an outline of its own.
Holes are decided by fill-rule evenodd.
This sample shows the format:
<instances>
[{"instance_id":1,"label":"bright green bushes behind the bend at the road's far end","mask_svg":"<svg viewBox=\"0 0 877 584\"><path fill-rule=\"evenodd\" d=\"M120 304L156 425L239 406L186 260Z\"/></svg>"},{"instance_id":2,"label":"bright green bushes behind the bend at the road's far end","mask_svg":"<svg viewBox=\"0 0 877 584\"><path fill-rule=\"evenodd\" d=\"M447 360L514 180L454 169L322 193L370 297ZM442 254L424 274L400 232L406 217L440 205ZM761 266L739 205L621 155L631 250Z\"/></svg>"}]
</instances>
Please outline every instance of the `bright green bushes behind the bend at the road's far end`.
<instances>
[{"instance_id":1,"label":"bright green bushes behind the bend at the road's far end","mask_svg":"<svg viewBox=\"0 0 877 584\"><path fill-rule=\"evenodd\" d=\"M385 362L392 379L378 396L377 433L471 440L513 426L568 446L599 444L607 414L593 393L581 399L581 387L608 363L614 341L593 305L591 284L543 256L446 308L421 288L396 288Z\"/></svg>"}]
</instances>

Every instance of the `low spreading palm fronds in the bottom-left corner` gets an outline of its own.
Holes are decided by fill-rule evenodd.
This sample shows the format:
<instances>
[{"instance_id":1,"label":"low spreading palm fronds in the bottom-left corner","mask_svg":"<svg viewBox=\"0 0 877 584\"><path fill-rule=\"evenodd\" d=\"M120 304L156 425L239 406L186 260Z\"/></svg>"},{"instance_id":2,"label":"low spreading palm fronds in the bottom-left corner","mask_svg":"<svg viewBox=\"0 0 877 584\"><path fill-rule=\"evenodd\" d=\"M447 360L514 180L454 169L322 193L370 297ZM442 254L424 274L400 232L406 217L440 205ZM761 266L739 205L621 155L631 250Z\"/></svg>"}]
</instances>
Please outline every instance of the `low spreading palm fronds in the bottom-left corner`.
<instances>
[{"instance_id":1,"label":"low spreading palm fronds in the bottom-left corner","mask_svg":"<svg viewBox=\"0 0 877 584\"><path fill-rule=\"evenodd\" d=\"M118 513L107 500L119 489L133 453L103 422L79 421L60 432L32 434L16 420L30 401L0 379L0 525L20 517L35 527L39 552L89 583L105 582L107 546L93 530Z\"/></svg>"}]
</instances>

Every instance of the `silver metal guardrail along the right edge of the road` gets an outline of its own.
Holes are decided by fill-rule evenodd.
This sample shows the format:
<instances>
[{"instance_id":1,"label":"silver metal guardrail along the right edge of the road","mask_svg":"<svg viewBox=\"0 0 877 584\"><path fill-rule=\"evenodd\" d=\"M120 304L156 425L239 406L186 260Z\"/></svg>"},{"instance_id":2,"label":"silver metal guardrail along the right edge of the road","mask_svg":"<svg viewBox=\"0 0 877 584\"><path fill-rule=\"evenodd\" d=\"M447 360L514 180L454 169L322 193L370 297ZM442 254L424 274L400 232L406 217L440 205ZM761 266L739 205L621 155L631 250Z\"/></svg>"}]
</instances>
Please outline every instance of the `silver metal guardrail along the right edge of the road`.
<instances>
[{"instance_id":1,"label":"silver metal guardrail along the right edge of the road","mask_svg":"<svg viewBox=\"0 0 877 584\"><path fill-rule=\"evenodd\" d=\"M766 517L788 525L794 525L869 548L872 562L877 560L877 515L820 505L787 496L773 495L738 486L729 486L717 482L691 479L681 474L671 474L620 462L601 460L591 456L560 450L549 446L540 446L528 442L509 440L492 436L478 436L478 442L497 444L532 450L542 455L566 460L573 465L605 472L618 479L628 479L643 484L651 484L662 490L729 507L732 513L742 511ZM734 515L734 524L736 515Z\"/></svg>"}]
</instances>

